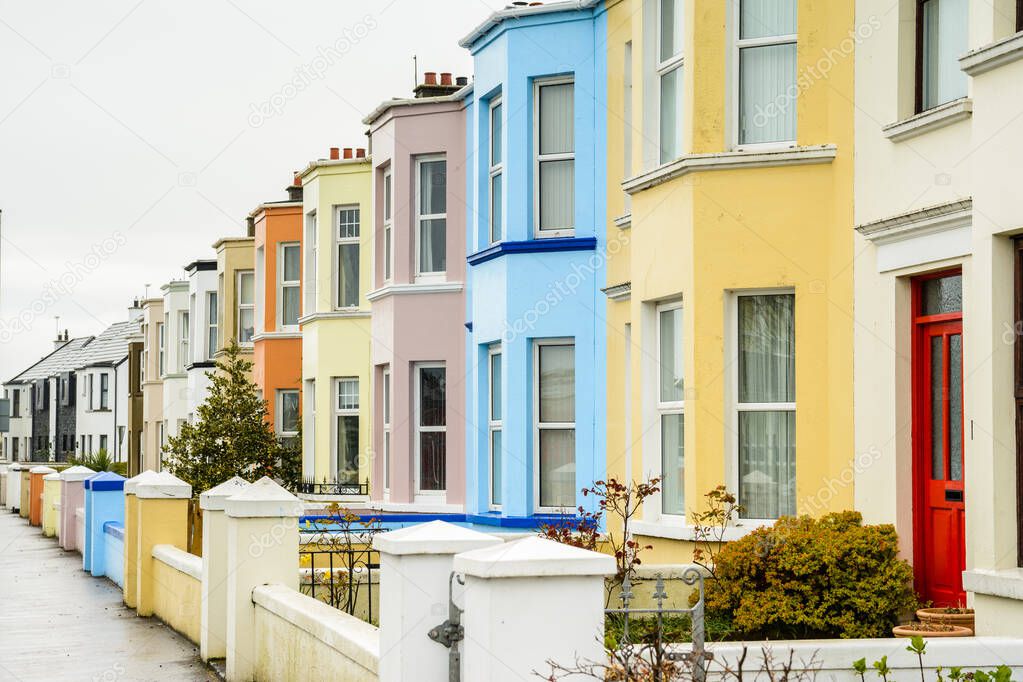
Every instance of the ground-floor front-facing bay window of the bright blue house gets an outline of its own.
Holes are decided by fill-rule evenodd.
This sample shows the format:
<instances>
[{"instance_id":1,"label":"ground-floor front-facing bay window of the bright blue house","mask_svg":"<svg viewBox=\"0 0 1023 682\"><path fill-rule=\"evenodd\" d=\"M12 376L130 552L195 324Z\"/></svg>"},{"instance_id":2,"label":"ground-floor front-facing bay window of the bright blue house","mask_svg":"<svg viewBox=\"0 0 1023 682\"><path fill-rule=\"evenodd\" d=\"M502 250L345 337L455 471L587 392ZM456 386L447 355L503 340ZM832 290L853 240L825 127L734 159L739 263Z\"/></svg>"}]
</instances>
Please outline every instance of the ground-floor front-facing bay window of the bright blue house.
<instances>
[{"instance_id":1,"label":"ground-floor front-facing bay window of the bright blue house","mask_svg":"<svg viewBox=\"0 0 1023 682\"><path fill-rule=\"evenodd\" d=\"M536 499L539 510L573 509L575 480L575 345L538 340L533 354Z\"/></svg>"}]
</instances>

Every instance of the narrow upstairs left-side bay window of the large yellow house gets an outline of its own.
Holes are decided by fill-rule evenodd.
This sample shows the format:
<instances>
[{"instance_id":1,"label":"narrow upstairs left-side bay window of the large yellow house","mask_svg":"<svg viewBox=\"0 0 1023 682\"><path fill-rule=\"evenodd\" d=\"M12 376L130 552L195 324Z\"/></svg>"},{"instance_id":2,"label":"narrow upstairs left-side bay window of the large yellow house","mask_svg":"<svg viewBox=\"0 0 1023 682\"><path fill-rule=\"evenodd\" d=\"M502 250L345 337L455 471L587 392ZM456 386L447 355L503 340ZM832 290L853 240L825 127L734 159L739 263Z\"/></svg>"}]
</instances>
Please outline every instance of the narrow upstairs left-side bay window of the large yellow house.
<instances>
[{"instance_id":1,"label":"narrow upstairs left-side bay window of the large yellow house","mask_svg":"<svg viewBox=\"0 0 1023 682\"><path fill-rule=\"evenodd\" d=\"M660 97L660 163L682 153L682 0L659 0L657 78Z\"/></svg>"}]
</instances>

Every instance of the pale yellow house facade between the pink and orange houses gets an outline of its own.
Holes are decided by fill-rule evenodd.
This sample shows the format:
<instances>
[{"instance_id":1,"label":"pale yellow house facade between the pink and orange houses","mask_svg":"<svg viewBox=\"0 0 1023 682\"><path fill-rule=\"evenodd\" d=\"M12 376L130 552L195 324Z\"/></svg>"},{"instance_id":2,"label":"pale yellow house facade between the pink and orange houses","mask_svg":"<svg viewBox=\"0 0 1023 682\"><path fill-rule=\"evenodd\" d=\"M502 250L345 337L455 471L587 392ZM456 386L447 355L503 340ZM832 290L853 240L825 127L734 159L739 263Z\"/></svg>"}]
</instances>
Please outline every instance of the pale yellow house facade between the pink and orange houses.
<instances>
[{"instance_id":1,"label":"pale yellow house facade between the pink and orange houses","mask_svg":"<svg viewBox=\"0 0 1023 682\"><path fill-rule=\"evenodd\" d=\"M369 160L319 160L301 180L303 480L325 484L314 494L366 495L372 465Z\"/></svg>"}]
</instances>

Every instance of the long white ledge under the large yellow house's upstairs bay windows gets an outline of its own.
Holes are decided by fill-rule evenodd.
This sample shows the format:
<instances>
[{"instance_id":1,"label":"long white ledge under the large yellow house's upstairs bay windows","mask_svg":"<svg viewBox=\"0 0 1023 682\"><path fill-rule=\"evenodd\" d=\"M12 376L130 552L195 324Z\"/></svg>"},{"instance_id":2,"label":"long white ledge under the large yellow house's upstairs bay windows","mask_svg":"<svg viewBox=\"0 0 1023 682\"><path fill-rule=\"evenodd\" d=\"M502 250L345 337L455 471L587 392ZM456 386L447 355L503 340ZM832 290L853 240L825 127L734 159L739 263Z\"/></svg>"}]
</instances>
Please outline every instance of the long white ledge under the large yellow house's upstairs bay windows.
<instances>
[{"instance_id":1,"label":"long white ledge under the large yellow house's upstairs bay windows","mask_svg":"<svg viewBox=\"0 0 1023 682\"><path fill-rule=\"evenodd\" d=\"M690 173L704 171L730 171L735 169L773 168L775 166L807 166L830 164L835 161L838 147L820 144L811 147L784 147L722 151L709 154L690 154L629 178L622 189L635 194L661 183L680 178Z\"/></svg>"}]
</instances>

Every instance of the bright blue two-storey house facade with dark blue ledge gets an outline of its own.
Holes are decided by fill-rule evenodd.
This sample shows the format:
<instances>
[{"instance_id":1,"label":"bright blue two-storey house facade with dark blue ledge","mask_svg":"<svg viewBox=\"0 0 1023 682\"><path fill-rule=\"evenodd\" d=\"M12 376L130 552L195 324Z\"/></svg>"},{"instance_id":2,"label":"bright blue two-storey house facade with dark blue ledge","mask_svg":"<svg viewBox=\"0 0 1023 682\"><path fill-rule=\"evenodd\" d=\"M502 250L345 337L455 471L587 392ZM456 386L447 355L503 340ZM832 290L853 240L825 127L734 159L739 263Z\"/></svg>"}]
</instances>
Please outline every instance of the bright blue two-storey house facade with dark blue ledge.
<instances>
[{"instance_id":1,"label":"bright blue two-storey house facade with dark blue ledge","mask_svg":"<svg viewBox=\"0 0 1023 682\"><path fill-rule=\"evenodd\" d=\"M466 496L516 525L592 508L606 470L603 3L511 7L461 41Z\"/></svg>"}]
</instances>

